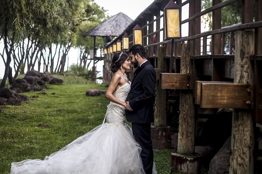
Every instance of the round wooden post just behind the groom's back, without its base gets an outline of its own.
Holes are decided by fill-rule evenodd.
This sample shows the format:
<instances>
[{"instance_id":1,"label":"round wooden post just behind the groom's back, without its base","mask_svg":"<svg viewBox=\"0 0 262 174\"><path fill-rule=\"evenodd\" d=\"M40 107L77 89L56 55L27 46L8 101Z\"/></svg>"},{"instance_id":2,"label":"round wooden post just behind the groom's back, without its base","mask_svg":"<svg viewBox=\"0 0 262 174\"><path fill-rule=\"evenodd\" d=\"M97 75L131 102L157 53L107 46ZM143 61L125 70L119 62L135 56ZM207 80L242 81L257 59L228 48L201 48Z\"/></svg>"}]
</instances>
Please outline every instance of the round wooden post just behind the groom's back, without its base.
<instances>
[{"instance_id":1,"label":"round wooden post just behind the groom's back, without its base","mask_svg":"<svg viewBox=\"0 0 262 174\"><path fill-rule=\"evenodd\" d=\"M158 48L157 68L165 69L164 57L166 56L166 47ZM155 96L155 126L165 127L167 126L167 115L166 115L166 90L161 89L159 80L156 81L156 96Z\"/></svg>"}]
</instances>

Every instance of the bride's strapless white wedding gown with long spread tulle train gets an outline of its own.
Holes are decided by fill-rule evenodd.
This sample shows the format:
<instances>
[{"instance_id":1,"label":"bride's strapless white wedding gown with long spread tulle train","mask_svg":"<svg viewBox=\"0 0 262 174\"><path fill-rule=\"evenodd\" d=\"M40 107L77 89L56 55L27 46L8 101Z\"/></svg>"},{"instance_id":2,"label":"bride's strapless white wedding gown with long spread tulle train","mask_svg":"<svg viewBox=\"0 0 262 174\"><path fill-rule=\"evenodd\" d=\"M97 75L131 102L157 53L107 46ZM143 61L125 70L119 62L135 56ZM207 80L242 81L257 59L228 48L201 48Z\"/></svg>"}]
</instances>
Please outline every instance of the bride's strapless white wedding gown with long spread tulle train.
<instances>
[{"instance_id":1,"label":"bride's strapless white wedding gown with long spread tulle train","mask_svg":"<svg viewBox=\"0 0 262 174\"><path fill-rule=\"evenodd\" d=\"M130 91L126 83L114 92L125 101ZM145 174L141 147L132 129L124 123L124 106L110 102L107 122L82 135L44 160L12 162L11 174ZM153 174L157 173L155 164Z\"/></svg>"}]
</instances>

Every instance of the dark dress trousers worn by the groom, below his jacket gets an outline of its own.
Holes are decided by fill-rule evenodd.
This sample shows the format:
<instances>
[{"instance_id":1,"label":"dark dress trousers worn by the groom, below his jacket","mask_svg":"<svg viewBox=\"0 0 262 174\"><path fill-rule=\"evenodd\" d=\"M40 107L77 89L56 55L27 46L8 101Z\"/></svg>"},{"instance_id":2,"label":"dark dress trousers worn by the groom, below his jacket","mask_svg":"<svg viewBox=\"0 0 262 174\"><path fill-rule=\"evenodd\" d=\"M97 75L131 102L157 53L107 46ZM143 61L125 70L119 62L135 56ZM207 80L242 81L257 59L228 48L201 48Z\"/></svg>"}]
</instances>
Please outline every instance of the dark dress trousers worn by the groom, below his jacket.
<instances>
[{"instance_id":1,"label":"dark dress trousers worn by the groom, below his jacket","mask_svg":"<svg viewBox=\"0 0 262 174\"><path fill-rule=\"evenodd\" d=\"M152 174L153 169L153 146L151 140L151 123L132 123L132 130L135 140L140 144L140 153L144 171Z\"/></svg>"}]
</instances>

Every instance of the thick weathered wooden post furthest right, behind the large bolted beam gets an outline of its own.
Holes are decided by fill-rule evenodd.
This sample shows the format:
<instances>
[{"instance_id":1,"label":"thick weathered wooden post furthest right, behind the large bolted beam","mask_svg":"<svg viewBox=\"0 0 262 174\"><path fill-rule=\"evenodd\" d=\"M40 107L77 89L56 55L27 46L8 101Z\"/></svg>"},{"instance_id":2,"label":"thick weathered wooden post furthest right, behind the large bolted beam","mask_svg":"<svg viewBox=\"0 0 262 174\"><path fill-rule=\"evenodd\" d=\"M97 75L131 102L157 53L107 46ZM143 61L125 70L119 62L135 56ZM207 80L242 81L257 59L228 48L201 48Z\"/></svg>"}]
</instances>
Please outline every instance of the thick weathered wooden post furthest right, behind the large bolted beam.
<instances>
[{"instance_id":1,"label":"thick weathered wooden post furthest right, behind the large bolted beam","mask_svg":"<svg viewBox=\"0 0 262 174\"><path fill-rule=\"evenodd\" d=\"M234 83L253 83L250 55L254 55L254 32L235 32ZM254 122L251 110L233 109L230 174L254 173Z\"/></svg>"}]
</instances>

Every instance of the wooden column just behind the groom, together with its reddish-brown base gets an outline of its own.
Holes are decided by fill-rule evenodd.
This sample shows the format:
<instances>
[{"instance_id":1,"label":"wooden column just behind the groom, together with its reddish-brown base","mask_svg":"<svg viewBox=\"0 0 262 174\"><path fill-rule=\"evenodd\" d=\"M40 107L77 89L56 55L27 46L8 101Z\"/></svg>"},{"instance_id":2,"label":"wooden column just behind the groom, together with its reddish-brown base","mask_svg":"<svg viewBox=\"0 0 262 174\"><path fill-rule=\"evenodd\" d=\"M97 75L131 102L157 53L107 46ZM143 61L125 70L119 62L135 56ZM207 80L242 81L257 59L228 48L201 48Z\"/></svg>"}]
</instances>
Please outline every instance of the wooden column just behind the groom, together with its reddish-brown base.
<instances>
[{"instance_id":1,"label":"wooden column just behind the groom, together with its reddish-brown base","mask_svg":"<svg viewBox=\"0 0 262 174\"><path fill-rule=\"evenodd\" d=\"M158 48L157 68L164 69L165 47ZM155 125L151 127L151 139L153 148L161 150L168 148L170 140L170 126L167 126L167 91L161 89L159 80L156 81L155 96Z\"/></svg>"}]
</instances>

